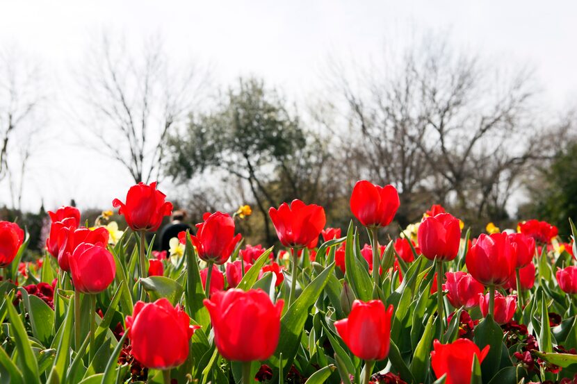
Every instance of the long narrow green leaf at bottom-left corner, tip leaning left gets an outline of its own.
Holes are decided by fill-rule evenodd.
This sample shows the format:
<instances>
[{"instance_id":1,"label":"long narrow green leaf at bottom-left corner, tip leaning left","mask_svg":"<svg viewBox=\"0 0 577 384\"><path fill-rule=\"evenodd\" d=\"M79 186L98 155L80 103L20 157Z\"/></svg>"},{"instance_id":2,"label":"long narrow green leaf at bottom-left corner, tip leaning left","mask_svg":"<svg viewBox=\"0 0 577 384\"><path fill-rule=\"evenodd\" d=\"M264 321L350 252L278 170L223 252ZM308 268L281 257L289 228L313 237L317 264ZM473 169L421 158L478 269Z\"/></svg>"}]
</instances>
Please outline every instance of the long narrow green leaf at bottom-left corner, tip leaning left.
<instances>
[{"instance_id":1,"label":"long narrow green leaf at bottom-left corner, tip leaning left","mask_svg":"<svg viewBox=\"0 0 577 384\"><path fill-rule=\"evenodd\" d=\"M4 301L8 301L8 295L4 294ZM11 303L12 301L8 301ZM10 326L14 332L14 342L18 351L18 358L20 366L22 367L22 377L26 384L40 384L40 377L38 374L38 361L34 355L34 351L26 335L26 328L22 324L16 308L8 304L8 317L10 318Z\"/></svg>"}]
</instances>

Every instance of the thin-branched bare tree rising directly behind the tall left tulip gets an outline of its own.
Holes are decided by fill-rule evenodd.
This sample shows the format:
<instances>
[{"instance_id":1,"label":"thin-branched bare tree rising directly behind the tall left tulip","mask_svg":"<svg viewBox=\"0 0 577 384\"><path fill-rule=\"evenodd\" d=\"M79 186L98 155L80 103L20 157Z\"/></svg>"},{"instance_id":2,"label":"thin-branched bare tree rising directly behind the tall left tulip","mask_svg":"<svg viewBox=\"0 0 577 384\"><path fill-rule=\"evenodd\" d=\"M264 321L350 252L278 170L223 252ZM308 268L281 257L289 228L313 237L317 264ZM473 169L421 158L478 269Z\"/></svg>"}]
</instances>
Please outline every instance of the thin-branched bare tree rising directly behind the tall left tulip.
<instances>
[{"instance_id":1,"label":"thin-branched bare tree rising directly behind the tall left tulip","mask_svg":"<svg viewBox=\"0 0 577 384\"><path fill-rule=\"evenodd\" d=\"M104 35L81 69L81 123L97 138L95 149L112 156L135 182L158 179L164 142L186 122L209 84L197 65L179 70L158 40L134 53L126 42Z\"/></svg>"}]
</instances>

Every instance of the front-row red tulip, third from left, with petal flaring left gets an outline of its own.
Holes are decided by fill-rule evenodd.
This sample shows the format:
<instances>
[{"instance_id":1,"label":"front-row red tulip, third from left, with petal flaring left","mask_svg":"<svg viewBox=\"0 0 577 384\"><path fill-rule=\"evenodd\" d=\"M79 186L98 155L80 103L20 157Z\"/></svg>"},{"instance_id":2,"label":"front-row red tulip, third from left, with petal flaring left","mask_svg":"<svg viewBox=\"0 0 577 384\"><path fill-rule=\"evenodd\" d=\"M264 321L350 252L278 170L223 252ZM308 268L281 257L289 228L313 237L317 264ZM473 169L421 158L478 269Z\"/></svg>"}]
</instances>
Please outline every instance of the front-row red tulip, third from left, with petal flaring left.
<instances>
[{"instance_id":1,"label":"front-row red tulip, third from left, with petal flaring left","mask_svg":"<svg viewBox=\"0 0 577 384\"><path fill-rule=\"evenodd\" d=\"M391 345L393 306L380 300L355 300L348 318L334 323L336 331L353 355L363 360L382 360Z\"/></svg>"}]
</instances>

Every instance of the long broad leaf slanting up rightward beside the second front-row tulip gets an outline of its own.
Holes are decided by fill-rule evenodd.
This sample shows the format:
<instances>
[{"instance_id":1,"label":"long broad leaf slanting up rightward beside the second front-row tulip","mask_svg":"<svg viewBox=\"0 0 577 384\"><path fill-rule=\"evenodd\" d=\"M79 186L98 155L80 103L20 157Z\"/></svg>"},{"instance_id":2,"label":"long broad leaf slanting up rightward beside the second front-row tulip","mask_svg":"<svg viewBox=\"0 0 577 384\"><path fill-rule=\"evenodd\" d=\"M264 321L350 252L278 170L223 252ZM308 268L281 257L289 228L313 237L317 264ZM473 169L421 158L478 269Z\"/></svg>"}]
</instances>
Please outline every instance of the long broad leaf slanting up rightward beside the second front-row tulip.
<instances>
[{"instance_id":1,"label":"long broad leaf slanting up rightward beside the second front-row tulip","mask_svg":"<svg viewBox=\"0 0 577 384\"><path fill-rule=\"evenodd\" d=\"M270 357L270 361L276 367L279 365L279 358L277 358L277 356L279 356L280 353L282 353L284 364L288 367L291 366L293 358L298 351L300 335L304 330L304 324L307 322L307 317L309 317L309 310L320 294L323 293L323 289L327 281L329 281L333 269L334 262L318 274L318 276L304 288L302 294L300 294L281 318L280 334L282 337L279 340L275 354ZM287 305L287 303L285 302L284 305Z\"/></svg>"}]
</instances>

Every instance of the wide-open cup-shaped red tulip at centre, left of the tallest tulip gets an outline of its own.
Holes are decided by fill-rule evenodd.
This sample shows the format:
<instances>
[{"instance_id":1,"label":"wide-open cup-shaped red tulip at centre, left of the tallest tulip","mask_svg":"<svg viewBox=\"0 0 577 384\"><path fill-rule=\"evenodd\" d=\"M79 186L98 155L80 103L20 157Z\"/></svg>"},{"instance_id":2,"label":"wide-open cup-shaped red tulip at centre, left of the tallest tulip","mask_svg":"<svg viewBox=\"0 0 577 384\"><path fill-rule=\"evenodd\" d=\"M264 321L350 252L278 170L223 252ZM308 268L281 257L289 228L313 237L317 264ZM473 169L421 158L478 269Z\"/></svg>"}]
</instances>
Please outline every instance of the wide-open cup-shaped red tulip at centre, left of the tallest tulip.
<instances>
[{"instance_id":1,"label":"wide-open cup-shaped red tulip at centre, left of the tallest tulip","mask_svg":"<svg viewBox=\"0 0 577 384\"><path fill-rule=\"evenodd\" d=\"M268 215L273 221L277 236L285 247L302 248L314 241L325 227L325 208L316 204L306 205L293 200L291 206L282 203L279 209L270 208Z\"/></svg>"}]
</instances>

